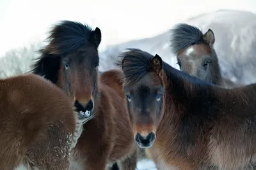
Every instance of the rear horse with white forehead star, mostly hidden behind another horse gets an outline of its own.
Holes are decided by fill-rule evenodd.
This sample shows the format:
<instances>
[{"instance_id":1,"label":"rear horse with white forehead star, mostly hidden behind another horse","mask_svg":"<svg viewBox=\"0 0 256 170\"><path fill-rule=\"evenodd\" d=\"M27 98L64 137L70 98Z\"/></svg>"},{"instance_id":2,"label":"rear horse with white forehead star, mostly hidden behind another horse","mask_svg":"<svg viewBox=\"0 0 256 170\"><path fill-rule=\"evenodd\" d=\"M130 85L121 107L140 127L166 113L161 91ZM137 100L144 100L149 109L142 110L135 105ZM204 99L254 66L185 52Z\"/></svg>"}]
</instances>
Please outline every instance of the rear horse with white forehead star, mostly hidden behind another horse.
<instances>
[{"instance_id":1,"label":"rear horse with white forehead star, mostly hidden behind another horse","mask_svg":"<svg viewBox=\"0 0 256 170\"><path fill-rule=\"evenodd\" d=\"M180 70L201 80L225 88L242 86L223 78L214 50L215 36L211 29L205 34L193 25L177 24L170 30L171 51L177 57Z\"/></svg>"}]
</instances>

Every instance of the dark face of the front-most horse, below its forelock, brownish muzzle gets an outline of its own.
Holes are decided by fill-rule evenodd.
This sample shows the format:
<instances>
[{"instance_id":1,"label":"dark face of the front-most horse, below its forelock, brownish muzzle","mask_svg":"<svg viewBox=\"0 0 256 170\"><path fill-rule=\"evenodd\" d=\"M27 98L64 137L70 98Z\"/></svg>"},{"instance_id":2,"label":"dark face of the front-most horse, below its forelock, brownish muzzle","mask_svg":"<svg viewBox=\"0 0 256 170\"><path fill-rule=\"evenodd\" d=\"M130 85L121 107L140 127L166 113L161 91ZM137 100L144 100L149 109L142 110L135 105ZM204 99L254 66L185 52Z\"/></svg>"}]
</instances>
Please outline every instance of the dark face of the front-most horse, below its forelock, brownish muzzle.
<instances>
[{"instance_id":1,"label":"dark face of the front-most horse, below its forelock, brownish muzzle","mask_svg":"<svg viewBox=\"0 0 256 170\"><path fill-rule=\"evenodd\" d=\"M141 148L149 148L156 139L156 127L161 118L162 80L158 73L150 71L134 85L125 85L124 90L134 139Z\"/></svg>"}]
</instances>

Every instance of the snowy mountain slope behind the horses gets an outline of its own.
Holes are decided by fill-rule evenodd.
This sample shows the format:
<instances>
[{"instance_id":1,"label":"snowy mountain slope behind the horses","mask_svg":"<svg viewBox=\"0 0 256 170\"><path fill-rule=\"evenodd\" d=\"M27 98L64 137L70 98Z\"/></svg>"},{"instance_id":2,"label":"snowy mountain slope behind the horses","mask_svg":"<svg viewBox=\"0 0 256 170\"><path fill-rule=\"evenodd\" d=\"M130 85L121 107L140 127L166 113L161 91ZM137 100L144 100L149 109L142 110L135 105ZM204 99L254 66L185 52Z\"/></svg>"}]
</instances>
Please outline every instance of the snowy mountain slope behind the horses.
<instances>
[{"instance_id":1,"label":"snowy mountain slope behind the horses","mask_svg":"<svg viewBox=\"0 0 256 170\"><path fill-rule=\"evenodd\" d=\"M240 83L256 82L256 15L247 11L218 10L205 13L185 22L196 25L203 32L212 29L216 43L214 48L220 59L223 76ZM141 48L154 54L159 54L177 69L177 60L169 48L170 32L166 31L152 38L138 39L114 46L100 53L106 62L101 62L102 71L113 68L113 60L118 52L125 48ZM109 54L113 55L109 59Z\"/></svg>"}]
</instances>

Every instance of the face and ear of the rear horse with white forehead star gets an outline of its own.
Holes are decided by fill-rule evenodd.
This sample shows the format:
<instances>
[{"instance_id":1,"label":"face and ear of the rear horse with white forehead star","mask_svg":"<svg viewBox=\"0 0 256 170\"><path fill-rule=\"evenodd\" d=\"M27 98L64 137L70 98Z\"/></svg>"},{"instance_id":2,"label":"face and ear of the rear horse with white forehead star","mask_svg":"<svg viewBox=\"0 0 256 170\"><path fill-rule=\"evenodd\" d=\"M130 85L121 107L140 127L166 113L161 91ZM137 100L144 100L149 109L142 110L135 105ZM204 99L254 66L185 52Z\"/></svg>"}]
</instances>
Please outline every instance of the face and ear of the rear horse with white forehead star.
<instances>
[{"instance_id":1,"label":"face and ear of the rear horse with white forehead star","mask_svg":"<svg viewBox=\"0 0 256 170\"><path fill-rule=\"evenodd\" d=\"M213 48L214 33L209 29L202 36L202 43L191 45L177 54L180 71L204 81L217 83L220 79L218 57Z\"/></svg>"}]
</instances>

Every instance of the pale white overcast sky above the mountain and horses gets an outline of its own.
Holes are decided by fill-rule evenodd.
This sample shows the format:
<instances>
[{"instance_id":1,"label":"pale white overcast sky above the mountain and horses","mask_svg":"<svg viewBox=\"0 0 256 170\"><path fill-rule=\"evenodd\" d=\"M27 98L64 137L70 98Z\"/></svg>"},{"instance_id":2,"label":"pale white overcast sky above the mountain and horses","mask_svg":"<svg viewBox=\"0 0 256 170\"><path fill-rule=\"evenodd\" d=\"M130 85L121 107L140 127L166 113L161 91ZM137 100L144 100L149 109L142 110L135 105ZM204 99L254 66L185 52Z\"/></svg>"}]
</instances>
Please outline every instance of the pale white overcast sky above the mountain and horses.
<instances>
[{"instance_id":1,"label":"pale white overcast sky above the mountain and horses","mask_svg":"<svg viewBox=\"0 0 256 170\"><path fill-rule=\"evenodd\" d=\"M58 20L99 27L102 48L155 36L186 18L220 9L256 13L256 0L0 0L0 55L42 41Z\"/></svg>"}]
</instances>

